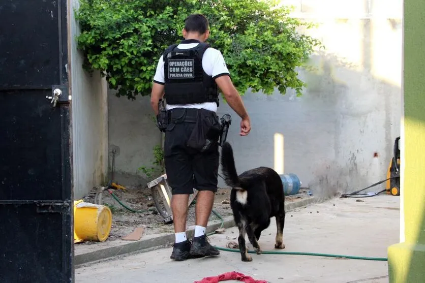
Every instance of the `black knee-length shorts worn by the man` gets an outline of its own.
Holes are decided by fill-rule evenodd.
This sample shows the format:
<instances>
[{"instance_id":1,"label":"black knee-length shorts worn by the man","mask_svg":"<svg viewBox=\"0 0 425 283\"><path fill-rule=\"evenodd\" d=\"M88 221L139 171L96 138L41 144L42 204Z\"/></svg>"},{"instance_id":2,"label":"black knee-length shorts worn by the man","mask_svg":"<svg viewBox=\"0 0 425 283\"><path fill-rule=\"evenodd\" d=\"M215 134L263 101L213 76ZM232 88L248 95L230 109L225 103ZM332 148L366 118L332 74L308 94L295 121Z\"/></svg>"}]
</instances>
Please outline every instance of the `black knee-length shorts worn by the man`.
<instances>
[{"instance_id":1,"label":"black knee-length shorts worn by the man","mask_svg":"<svg viewBox=\"0 0 425 283\"><path fill-rule=\"evenodd\" d=\"M208 149L200 151L188 146L197 127L200 110L175 108L168 111L169 124L165 131L164 160L168 183L173 195L193 194L198 191L217 192L219 170L218 139ZM219 125L216 113L202 110Z\"/></svg>"}]
</instances>

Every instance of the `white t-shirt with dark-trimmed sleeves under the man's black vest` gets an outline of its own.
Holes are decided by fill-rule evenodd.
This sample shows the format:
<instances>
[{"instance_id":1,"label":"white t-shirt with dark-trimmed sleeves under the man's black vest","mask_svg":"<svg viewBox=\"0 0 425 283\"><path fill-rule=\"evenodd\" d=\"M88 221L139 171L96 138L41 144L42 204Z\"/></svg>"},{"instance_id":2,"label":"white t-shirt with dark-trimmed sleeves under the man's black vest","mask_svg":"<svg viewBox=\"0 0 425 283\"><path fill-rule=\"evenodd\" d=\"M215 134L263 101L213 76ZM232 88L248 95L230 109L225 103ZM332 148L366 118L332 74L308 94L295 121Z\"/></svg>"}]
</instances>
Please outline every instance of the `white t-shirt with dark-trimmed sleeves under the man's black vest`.
<instances>
[{"instance_id":1,"label":"white t-shirt with dark-trimmed sleeves under the man's black vest","mask_svg":"<svg viewBox=\"0 0 425 283\"><path fill-rule=\"evenodd\" d=\"M199 44L196 40L184 40L182 41L177 48L178 49L190 49L194 48ZM228 75L230 72L227 69L226 62L224 61L223 55L221 52L214 48L208 48L205 50L205 53L202 57L202 69L208 75L216 79L220 76ZM164 60L163 56L158 61L157 72L154 77L154 82L159 84L164 84ZM204 108L209 111L217 112L217 103L215 102L205 102L205 103L196 103L196 104L167 104L166 109L170 110L173 108Z\"/></svg>"}]
</instances>

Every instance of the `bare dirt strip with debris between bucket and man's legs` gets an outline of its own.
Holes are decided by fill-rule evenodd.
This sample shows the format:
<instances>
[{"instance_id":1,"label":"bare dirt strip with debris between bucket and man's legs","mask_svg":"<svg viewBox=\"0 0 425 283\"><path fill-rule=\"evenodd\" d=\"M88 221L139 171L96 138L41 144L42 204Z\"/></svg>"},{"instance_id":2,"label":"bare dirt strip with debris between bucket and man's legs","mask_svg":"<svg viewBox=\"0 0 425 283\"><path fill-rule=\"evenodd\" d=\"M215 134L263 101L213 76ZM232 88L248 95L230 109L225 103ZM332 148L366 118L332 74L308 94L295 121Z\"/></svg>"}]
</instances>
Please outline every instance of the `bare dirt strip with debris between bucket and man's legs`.
<instances>
[{"instance_id":1,"label":"bare dirt strip with debris between bucket and man's legs","mask_svg":"<svg viewBox=\"0 0 425 283\"><path fill-rule=\"evenodd\" d=\"M173 225L164 224L162 222L162 216L156 211L150 189L142 186L134 186L127 187L126 191L113 190L114 195L127 207L136 211L153 210L142 213L132 212L124 208L107 191L103 191L99 193L100 196L97 196L98 190L100 188L94 188L83 199L85 202L102 204L111 209L112 227L108 241L121 239L133 232L137 227L144 227L143 235L173 233ZM96 198L100 201L96 201ZM214 210L222 217L232 215L229 200L230 190L220 188L216 193ZM222 203L223 201L224 203ZM211 213L209 219L213 221L217 219L217 216ZM195 205L189 207L187 227L193 225L195 225Z\"/></svg>"}]
</instances>

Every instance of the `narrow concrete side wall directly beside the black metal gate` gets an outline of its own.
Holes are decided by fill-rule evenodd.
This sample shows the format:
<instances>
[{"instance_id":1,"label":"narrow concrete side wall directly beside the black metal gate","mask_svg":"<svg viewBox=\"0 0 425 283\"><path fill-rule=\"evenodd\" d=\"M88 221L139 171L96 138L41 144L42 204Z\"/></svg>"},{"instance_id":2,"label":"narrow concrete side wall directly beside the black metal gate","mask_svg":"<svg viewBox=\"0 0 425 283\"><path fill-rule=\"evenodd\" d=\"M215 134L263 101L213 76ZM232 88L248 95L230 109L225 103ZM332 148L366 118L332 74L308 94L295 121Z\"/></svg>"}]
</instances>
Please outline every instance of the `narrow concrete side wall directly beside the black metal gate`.
<instances>
[{"instance_id":1,"label":"narrow concrete side wall directly beside the black metal gate","mask_svg":"<svg viewBox=\"0 0 425 283\"><path fill-rule=\"evenodd\" d=\"M74 198L86 195L106 180L108 169L107 84L100 73L90 77L82 69L83 56L75 37L79 26L74 9L78 0L69 0L70 85L72 95L72 151Z\"/></svg>"}]
</instances>

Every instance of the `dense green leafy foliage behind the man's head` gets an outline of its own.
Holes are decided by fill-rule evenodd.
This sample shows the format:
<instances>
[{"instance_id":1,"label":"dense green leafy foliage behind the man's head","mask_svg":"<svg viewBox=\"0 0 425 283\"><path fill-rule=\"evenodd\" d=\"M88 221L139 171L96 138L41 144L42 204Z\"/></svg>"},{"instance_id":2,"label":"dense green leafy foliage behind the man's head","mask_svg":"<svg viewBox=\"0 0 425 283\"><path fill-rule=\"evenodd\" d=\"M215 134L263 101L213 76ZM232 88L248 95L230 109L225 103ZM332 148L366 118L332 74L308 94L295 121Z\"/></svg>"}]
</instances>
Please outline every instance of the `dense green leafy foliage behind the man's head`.
<instances>
[{"instance_id":1,"label":"dense green leafy foliage behind the man's head","mask_svg":"<svg viewBox=\"0 0 425 283\"><path fill-rule=\"evenodd\" d=\"M240 93L249 88L271 94L287 88L297 95L298 78L320 42L297 32L312 25L290 18L275 0L80 0L76 18L84 68L100 70L117 96L135 99L150 93L158 59L182 38L184 19L204 14L210 23L208 43L219 49Z\"/></svg>"}]
</instances>

